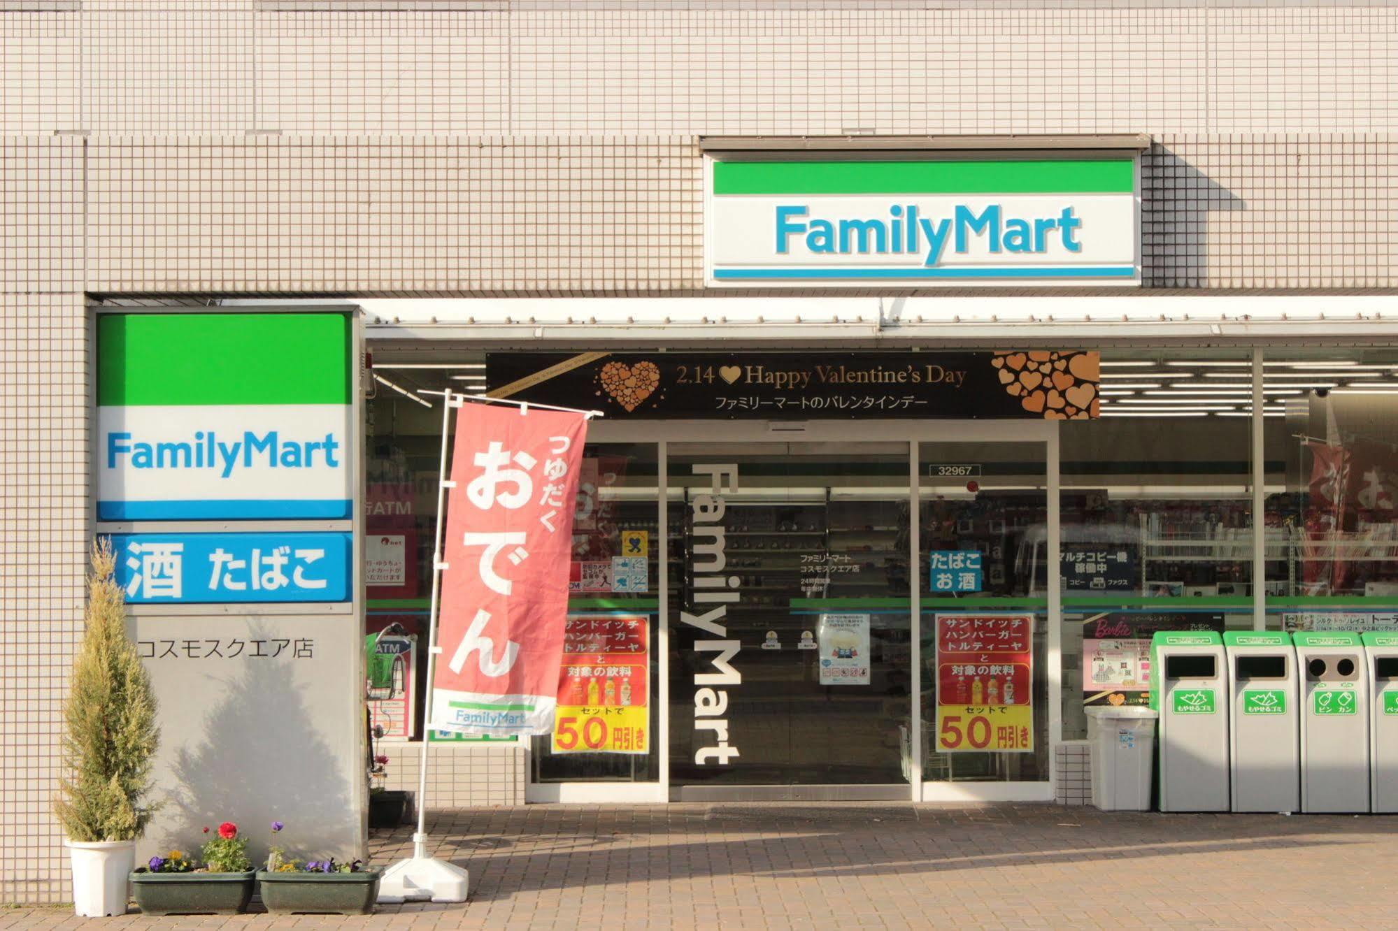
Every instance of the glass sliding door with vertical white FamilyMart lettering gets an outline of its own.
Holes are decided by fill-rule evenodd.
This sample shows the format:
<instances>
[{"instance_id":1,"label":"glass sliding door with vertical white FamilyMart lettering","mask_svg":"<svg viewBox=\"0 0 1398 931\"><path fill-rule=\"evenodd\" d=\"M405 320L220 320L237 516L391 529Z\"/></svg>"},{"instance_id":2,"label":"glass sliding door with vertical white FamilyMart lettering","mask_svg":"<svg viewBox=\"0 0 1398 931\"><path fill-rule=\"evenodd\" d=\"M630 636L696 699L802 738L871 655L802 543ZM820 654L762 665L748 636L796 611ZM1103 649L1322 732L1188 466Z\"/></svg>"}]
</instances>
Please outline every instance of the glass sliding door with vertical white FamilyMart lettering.
<instances>
[{"instance_id":1,"label":"glass sliding door with vertical white FamilyMart lettering","mask_svg":"<svg viewBox=\"0 0 1398 931\"><path fill-rule=\"evenodd\" d=\"M668 450L672 797L907 798L909 445Z\"/></svg>"}]
</instances>

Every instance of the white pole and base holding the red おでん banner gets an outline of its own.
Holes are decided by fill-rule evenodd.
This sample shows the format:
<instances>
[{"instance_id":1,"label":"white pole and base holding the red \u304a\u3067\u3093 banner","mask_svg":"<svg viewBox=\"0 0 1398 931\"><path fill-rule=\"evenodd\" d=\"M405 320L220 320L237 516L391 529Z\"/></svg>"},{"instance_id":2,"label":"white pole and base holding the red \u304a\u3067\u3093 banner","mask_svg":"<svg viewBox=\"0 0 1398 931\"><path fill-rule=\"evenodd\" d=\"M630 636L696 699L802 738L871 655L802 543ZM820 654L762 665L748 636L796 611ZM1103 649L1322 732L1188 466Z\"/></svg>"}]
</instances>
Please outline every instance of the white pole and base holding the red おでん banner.
<instances>
[{"instance_id":1,"label":"white pole and base holding the red \u304a\u3067\u3093 banner","mask_svg":"<svg viewBox=\"0 0 1398 931\"><path fill-rule=\"evenodd\" d=\"M432 537L432 598L428 601L428 700L422 716L422 758L418 772L418 829L412 835L412 856L400 860L383 872L379 881L379 902L398 903L431 899L432 902L466 902L467 871L453 863L428 856L428 749L432 745L432 679L436 674L438 597L442 590L442 530L446 524L446 489L452 486L446 471L447 436L452 408L461 407L461 398L452 391L442 393L442 463L438 471L436 531Z\"/></svg>"}]
</instances>

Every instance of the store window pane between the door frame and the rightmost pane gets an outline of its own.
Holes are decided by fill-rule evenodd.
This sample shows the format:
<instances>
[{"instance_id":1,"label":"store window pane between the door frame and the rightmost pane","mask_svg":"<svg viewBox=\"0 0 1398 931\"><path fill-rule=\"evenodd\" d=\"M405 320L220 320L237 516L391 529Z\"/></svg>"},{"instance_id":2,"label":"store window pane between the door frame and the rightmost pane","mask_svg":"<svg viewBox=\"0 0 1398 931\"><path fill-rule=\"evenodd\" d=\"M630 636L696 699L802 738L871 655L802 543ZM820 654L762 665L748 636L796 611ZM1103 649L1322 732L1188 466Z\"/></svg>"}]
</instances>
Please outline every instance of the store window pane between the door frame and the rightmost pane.
<instances>
[{"instance_id":1,"label":"store window pane between the door frame and the rightmost pane","mask_svg":"<svg viewBox=\"0 0 1398 931\"><path fill-rule=\"evenodd\" d=\"M1062 734L1144 705L1151 636L1253 625L1251 354L1102 354L1102 419L1060 433Z\"/></svg>"}]
</instances>

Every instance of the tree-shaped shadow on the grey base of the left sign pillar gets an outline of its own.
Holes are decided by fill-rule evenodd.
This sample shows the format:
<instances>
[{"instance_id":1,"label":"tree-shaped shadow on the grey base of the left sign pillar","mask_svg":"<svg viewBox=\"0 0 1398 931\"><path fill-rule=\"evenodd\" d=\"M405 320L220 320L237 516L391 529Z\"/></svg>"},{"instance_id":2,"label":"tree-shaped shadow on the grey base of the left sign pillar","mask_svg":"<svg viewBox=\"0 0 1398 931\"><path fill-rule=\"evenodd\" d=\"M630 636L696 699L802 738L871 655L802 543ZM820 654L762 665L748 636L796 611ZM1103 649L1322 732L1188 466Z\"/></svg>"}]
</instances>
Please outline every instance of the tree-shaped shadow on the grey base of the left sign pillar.
<instances>
[{"instance_id":1,"label":"tree-shaped shadow on the grey base of the left sign pillar","mask_svg":"<svg viewBox=\"0 0 1398 931\"><path fill-rule=\"evenodd\" d=\"M247 632L249 643L273 637L270 628ZM285 656L249 661L242 665L245 675L221 679L224 695L204 717L203 739L175 755L175 786L161 812L162 849L201 843L206 826L212 836L221 822L232 821L247 836L256 864L266 858L271 822L278 819L287 823L278 840L288 850L351 853L306 847L323 837L319 826L344 822L351 787L306 706L313 684L298 684L291 651Z\"/></svg>"}]
</instances>

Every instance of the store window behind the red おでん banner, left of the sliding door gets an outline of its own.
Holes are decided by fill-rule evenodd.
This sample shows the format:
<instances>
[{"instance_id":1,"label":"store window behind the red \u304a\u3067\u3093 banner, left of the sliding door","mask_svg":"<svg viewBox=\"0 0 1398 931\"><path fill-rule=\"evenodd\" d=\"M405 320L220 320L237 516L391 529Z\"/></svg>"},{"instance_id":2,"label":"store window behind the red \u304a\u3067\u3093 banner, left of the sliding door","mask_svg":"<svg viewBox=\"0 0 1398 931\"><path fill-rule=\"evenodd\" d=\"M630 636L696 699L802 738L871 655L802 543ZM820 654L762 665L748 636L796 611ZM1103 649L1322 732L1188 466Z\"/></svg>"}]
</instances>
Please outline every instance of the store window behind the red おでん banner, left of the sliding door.
<instances>
[{"instance_id":1,"label":"store window behind the red \u304a\u3067\u3093 banner, left of the sliding door","mask_svg":"<svg viewBox=\"0 0 1398 931\"><path fill-rule=\"evenodd\" d=\"M386 369L403 387L470 389L480 363ZM407 390L407 387L404 389ZM432 544L442 453L440 408L383 390L368 410L365 488L366 698L384 739L421 739ZM658 477L654 443L590 443L583 450L569 614L555 734L533 739L530 777L647 781L657 774ZM565 696L561 692L561 696ZM579 712L569 717L569 707ZM601 723L582 709L604 710ZM605 731L605 738L600 737ZM473 741L443 731L435 741Z\"/></svg>"}]
</instances>

